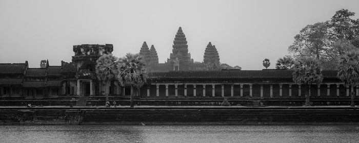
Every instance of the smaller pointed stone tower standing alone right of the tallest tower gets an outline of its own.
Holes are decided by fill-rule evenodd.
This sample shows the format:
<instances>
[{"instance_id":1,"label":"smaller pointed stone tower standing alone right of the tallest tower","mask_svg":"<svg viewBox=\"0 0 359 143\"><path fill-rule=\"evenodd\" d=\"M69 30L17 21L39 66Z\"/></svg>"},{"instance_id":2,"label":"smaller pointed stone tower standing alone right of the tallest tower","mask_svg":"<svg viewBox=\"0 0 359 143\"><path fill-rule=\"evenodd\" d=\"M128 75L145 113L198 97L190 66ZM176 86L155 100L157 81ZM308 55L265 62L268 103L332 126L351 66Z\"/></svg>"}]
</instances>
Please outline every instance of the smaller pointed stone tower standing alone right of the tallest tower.
<instances>
[{"instance_id":1,"label":"smaller pointed stone tower standing alone right of the tallest tower","mask_svg":"<svg viewBox=\"0 0 359 143\"><path fill-rule=\"evenodd\" d=\"M215 45L212 45L211 42L207 44L205 54L203 56L203 63L220 63L220 55L218 55L218 51L215 48Z\"/></svg>"}]
</instances>

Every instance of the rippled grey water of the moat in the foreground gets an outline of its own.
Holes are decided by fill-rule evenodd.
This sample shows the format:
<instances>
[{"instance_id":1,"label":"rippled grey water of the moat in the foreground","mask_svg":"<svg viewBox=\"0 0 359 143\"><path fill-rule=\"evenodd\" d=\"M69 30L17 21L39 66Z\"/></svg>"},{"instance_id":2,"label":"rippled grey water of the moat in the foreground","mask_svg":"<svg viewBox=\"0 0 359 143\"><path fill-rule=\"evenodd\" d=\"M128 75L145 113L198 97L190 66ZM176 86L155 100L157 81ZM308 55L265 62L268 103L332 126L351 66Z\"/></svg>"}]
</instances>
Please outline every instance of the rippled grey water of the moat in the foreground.
<instances>
[{"instance_id":1,"label":"rippled grey water of the moat in the foreground","mask_svg":"<svg viewBox=\"0 0 359 143\"><path fill-rule=\"evenodd\" d=\"M0 142L358 142L359 126L0 126Z\"/></svg>"}]
</instances>

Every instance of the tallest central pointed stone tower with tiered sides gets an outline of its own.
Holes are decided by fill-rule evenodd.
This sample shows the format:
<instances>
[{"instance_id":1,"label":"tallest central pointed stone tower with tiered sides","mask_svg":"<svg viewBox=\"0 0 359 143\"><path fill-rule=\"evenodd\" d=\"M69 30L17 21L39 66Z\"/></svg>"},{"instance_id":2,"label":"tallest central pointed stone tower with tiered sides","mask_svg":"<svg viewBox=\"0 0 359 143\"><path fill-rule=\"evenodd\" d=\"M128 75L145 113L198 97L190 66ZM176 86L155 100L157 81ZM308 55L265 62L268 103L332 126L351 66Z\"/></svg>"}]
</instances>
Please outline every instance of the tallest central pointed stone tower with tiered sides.
<instances>
[{"instance_id":1,"label":"tallest central pointed stone tower with tiered sides","mask_svg":"<svg viewBox=\"0 0 359 143\"><path fill-rule=\"evenodd\" d=\"M167 63L173 64L173 70L189 70L193 59L191 59L191 54L188 53L186 36L181 27L178 28L174 37L172 48L172 53L170 58L167 59Z\"/></svg>"}]
</instances>

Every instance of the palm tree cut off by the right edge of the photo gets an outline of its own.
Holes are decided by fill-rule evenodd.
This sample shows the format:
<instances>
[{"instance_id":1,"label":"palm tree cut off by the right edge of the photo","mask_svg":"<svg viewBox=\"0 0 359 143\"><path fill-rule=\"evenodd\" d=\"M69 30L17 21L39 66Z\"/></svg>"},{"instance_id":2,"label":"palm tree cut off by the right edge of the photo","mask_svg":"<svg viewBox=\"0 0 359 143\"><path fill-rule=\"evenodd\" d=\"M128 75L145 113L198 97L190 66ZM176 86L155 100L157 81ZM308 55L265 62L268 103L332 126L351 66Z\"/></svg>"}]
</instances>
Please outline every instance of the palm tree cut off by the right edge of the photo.
<instances>
[{"instance_id":1,"label":"palm tree cut off by the right edge of the photo","mask_svg":"<svg viewBox=\"0 0 359 143\"><path fill-rule=\"evenodd\" d=\"M344 82L347 88L351 86L350 106L354 107L353 87L358 85L359 79L359 53L357 51L347 52L340 56L337 77Z\"/></svg>"}]
</instances>

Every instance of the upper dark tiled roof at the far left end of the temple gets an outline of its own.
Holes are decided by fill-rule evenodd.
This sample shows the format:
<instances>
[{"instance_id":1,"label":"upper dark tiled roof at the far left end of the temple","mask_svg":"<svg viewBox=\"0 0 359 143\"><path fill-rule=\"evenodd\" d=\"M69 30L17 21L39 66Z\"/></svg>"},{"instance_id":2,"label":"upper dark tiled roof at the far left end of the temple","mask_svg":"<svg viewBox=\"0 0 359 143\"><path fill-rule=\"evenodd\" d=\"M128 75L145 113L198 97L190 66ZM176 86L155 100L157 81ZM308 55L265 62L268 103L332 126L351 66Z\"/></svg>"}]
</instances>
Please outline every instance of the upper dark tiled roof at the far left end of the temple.
<instances>
[{"instance_id":1,"label":"upper dark tiled roof at the far left end of the temple","mask_svg":"<svg viewBox=\"0 0 359 143\"><path fill-rule=\"evenodd\" d=\"M0 74L24 74L25 63L0 63Z\"/></svg>"}]
</instances>

